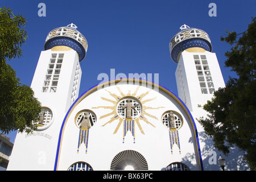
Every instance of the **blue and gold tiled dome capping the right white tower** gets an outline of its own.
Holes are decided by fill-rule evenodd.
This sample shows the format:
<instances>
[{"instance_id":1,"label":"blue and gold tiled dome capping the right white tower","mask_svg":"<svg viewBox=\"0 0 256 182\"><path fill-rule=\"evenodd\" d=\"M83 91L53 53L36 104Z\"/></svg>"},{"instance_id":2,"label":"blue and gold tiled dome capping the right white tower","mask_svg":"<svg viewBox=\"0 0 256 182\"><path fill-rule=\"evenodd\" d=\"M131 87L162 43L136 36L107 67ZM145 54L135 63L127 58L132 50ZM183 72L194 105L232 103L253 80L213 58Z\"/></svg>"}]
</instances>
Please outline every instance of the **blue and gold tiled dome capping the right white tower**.
<instances>
[{"instance_id":1,"label":"blue and gold tiled dome capping the right white tower","mask_svg":"<svg viewBox=\"0 0 256 182\"><path fill-rule=\"evenodd\" d=\"M207 32L198 28L190 28L186 24L180 27L180 31L171 39L169 44L171 58L178 63L181 52L189 48L200 48L212 51L212 44Z\"/></svg>"}]
</instances>

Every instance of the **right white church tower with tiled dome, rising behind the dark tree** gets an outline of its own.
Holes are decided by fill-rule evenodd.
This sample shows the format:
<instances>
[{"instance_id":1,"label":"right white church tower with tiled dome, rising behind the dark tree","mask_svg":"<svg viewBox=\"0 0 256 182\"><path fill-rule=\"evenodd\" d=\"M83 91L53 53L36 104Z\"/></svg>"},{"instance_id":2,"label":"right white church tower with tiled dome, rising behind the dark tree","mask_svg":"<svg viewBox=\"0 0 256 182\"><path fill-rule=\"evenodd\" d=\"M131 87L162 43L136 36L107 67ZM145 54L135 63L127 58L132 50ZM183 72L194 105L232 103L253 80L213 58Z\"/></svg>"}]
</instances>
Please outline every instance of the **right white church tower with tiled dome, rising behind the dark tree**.
<instances>
[{"instance_id":1,"label":"right white church tower with tiled dome, rising behind the dark tree","mask_svg":"<svg viewBox=\"0 0 256 182\"><path fill-rule=\"evenodd\" d=\"M207 32L187 25L171 39L170 53L179 97L190 111L203 106L218 88L225 87L216 54ZM201 109L200 109L201 110Z\"/></svg>"}]
</instances>

